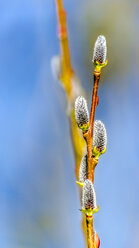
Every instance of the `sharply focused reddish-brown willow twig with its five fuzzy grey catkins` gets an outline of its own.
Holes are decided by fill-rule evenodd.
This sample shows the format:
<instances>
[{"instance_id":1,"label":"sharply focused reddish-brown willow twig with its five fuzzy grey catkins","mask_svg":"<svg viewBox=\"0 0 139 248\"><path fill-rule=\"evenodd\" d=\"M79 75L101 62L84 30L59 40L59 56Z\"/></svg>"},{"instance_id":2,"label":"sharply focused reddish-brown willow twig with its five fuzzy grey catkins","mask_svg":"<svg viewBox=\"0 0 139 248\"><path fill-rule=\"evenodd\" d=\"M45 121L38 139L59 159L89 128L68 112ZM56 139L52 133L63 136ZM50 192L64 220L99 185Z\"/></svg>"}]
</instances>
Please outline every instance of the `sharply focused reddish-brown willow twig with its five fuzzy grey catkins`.
<instances>
[{"instance_id":1,"label":"sharply focused reddish-brown willow twig with its five fuzzy grey catkins","mask_svg":"<svg viewBox=\"0 0 139 248\"><path fill-rule=\"evenodd\" d=\"M87 145L87 153L83 156L80 165L79 182L82 186L82 209L86 216L87 243L88 248L98 248L100 240L98 234L94 235L93 214L99 210L96 205L96 195L94 189L94 171L98 164L99 156L106 151L107 134L104 124L101 121L95 121L95 112L98 105L98 86L101 75L101 69L107 65L107 46L106 39L99 35L93 53L94 63L94 86L92 94L90 120L88 120L88 108L86 100L78 97L75 101L75 117L78 127L82 130L83 137Z\"/></svg>"}]
</instances>

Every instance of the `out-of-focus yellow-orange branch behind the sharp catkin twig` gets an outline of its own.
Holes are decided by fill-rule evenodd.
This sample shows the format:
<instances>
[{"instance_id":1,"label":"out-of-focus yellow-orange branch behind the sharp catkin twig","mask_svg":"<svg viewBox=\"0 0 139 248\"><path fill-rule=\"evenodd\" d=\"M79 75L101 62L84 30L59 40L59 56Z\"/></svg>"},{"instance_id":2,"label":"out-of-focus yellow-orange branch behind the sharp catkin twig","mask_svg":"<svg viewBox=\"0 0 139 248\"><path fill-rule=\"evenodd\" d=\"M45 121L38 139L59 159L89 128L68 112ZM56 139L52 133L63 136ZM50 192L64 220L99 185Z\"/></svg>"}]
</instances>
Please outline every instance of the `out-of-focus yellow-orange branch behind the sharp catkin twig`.
<instances>
[{"instance_id":1,"label":"out-of-focus yellow-orange branch behind the sharp catkin twig","mask_svg":"<svg viewBox=\"0 0 139 248\"><path fill-rule=\"evenodd\" d=\"M63 0L55 0L55 4L56 4L56 12L57 12L58 38L60 43L61 59L62 59L62 75L60 79L65 88L65 93L67 95L68 102L72 106L71 114L69 116L69 121L70 121L71 140L72 140L73 151L75 156L75 175L78 180L80 163L83 154L85 152L85 141L82 137L81 131L78 129L75 120L75 112L73 106L73 103L75 101L75 93L72 87L72 77L74 75L74 71L71 65L71 58L69 51L66 11L64 10ZM83 216L82 228L85 234L86 225L84 225L85 222L84 219L85 218Z\"/></svg>"}]
</instances>

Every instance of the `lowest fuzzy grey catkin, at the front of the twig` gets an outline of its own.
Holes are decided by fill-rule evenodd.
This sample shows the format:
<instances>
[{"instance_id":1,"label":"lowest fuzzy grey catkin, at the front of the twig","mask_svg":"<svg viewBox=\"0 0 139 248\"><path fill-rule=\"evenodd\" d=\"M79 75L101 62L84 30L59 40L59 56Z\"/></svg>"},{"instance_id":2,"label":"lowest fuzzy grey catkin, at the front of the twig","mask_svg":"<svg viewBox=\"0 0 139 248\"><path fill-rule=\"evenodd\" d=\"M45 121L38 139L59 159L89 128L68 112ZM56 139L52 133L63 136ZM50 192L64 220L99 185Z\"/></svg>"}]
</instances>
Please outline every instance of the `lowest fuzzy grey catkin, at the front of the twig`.
<instances>
[{"instance_id":1,"label":"lowest fuzzy grey catkin, at the front of the twig","mask_svg":"<svg viewBox=\"0 0 139 248\"><path fill-rule=\"evenodd\" d=\"M82 191L82 208L83 209L95 209L96 204L96 194L94 185L89 179L86 179Z\"/></svg>"}]
</instances>

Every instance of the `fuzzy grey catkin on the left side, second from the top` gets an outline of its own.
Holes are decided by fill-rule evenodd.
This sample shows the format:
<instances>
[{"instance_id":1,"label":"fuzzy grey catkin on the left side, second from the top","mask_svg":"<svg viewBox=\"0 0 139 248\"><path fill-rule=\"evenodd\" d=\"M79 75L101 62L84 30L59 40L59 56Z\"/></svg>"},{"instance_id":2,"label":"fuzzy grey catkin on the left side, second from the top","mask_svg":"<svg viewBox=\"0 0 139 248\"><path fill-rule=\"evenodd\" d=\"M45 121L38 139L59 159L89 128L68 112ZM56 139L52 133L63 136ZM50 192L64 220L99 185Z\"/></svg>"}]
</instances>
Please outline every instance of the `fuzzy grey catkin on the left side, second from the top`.
<instances>
[{"instance_id":1,"label":"fuzzy grey catkin on the left side, second from the top","mask_svg":"<svg viewBox=\"0 0 139 248\"><path fill-rule=\"evenodd\" d=\"M78 96L75 101L75 118L78 126L89 122L87 102L83 96Z\"/></svg>"}]
</instances>

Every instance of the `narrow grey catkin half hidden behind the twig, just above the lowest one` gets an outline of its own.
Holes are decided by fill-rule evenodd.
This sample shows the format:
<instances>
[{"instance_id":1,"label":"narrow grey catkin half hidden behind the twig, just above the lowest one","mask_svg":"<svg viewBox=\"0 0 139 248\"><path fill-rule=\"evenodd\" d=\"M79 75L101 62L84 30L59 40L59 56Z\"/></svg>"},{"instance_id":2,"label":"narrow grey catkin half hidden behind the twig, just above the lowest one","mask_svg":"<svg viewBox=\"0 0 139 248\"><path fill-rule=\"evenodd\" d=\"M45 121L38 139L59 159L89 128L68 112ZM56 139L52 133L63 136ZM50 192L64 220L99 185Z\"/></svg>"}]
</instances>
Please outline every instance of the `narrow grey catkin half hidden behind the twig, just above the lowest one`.
<instances>
[{"instance_id":1,"label":"narrow grey catkin half hidden behind the twig, just above the lowest one","mask_svg":"<svg viewBox=\"0 0 139 248\"><path fill-rule=\"evenodd\" d=\"M82 157L80 170L79 170L79 181L84 182L87 179L87 154Z\"/></svg>"}]
</instances>

